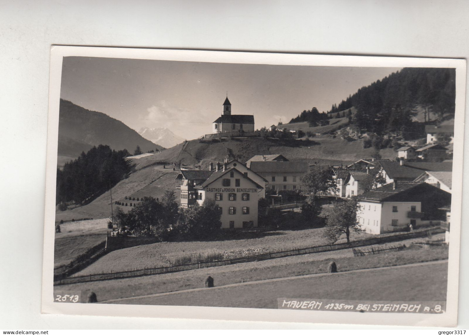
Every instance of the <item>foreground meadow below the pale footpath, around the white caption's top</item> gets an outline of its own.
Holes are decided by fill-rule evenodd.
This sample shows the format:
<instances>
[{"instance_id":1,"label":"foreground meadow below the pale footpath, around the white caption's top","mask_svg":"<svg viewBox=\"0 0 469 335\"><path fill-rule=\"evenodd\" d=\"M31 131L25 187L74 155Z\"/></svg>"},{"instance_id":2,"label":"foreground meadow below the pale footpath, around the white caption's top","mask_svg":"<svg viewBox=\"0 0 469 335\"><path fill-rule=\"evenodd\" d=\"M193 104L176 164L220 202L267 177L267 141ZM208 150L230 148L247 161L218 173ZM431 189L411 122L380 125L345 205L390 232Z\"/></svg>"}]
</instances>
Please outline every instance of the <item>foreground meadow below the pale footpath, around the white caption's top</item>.
<instances>
[{"instance_id":1,"label":"foreground meadow below the pale footpath, around the white caption's top","mask_svg":"<svg viewBox=\"0 0 469 335\"><path fill-rule=\"evenodd\" d=\"M198 289L112 303L276 309L277 298L280 297L314 300L446 301L446 273L446 263L419 264Z\"/></svg>"}]
</instances>

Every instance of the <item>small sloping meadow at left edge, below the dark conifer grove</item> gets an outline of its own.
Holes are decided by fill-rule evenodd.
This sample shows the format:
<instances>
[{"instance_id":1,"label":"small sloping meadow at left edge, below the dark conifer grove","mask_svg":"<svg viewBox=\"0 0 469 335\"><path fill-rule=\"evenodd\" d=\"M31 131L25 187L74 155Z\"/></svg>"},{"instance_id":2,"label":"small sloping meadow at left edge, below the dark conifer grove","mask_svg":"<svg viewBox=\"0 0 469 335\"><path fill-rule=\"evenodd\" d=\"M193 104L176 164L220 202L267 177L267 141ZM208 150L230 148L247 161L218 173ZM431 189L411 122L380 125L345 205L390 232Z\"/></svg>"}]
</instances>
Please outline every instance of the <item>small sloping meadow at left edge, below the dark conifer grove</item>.
<instances>
[{"instance_id":1,"label":"small sloping meadow at left edge, below the dark conifer grove","mask_svg":"<svg viewBox=\"0 0 469 335\"><path fill-rule=\"evenodd\" d=\"M68 264L87 249L106 240L109 220L86 220L61 224L61 233L55 233L54 267Z\"/></svg>"}]
</instances>

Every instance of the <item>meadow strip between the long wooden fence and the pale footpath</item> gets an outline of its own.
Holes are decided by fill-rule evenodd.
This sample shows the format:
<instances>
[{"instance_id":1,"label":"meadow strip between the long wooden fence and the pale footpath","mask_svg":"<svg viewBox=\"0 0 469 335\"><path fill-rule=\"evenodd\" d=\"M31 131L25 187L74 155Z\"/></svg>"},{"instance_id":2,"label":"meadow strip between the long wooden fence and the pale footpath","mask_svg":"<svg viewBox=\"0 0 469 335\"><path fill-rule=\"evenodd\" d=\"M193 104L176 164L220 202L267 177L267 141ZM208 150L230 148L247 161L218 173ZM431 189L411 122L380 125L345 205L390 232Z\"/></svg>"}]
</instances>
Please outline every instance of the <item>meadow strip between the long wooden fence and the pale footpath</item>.
<instances>
[{"instance_id":1,"label":"meadow strip between the long wooden fence and the pale footpath","mask_svg":"<svg viewBox=\"0 0 469 335\"><path fill-rule=\"evenodd\" d=\"M348 249L169 274L60 285L55 286L54 290L81 290L85 295L93 291L98 295L98 301L103 301L201 288L208 275L214 278L215 286L218 287L272 278L320 274L326 272L327 265L331 260L337 263L339 272L343 272L447 259L447 257L447 246L431 247L430 249L409 248L404 251L364 257L353 257L352 251ZM446 275L446 269L442 271L441 273ZM382 282L382 278L380 282ZM446 285L444 291L446 291Z\"/></svg>"}]
</instances>

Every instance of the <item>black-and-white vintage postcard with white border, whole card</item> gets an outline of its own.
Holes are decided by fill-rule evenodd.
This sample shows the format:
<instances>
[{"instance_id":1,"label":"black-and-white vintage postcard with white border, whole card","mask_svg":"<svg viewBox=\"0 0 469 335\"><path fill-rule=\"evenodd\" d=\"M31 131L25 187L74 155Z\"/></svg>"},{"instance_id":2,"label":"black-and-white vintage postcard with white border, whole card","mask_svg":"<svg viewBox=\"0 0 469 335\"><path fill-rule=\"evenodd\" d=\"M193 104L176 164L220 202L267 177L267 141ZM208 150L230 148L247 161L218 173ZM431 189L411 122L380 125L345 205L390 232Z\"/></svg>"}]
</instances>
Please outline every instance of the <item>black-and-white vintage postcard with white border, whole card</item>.
<instances>
[{"instance_id":1,"label":"black-and-white vintage postcard with white border, whole card","mask_svg":"<svg viewBox=\"0 0 469 335\"><path fill-rule=\"evenodd\" d=\"M465 73L53 46L42 311L455 326Z\"/></svg>"}]
</instances>

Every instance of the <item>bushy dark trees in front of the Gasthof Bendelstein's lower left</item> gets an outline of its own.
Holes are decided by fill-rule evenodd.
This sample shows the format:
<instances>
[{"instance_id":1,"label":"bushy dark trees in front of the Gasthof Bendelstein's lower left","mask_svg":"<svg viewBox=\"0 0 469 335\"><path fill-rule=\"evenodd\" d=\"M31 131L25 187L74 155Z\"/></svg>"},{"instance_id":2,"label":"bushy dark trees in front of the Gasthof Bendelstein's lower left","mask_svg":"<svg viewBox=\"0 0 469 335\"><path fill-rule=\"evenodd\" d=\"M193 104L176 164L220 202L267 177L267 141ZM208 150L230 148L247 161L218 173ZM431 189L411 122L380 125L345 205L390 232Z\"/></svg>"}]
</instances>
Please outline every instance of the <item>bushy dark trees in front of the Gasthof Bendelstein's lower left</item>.
<instances>
[{"instance_id":1,"label":"bushy dark trees in front of the Gasthof Bendelstein's lower left","mask_svg":"<svg viewBox=\"0 0 469 335\"><path fill-rule=\"evenodd\" d=\"M221 212L215 201L208 199L202 206L179 208L174 191L166 191L161 201L144 197L128 213L120 208L115 224L121 231L155 236L159 241L212 239L221 228Z\"/></svg>"}]
</instances>

